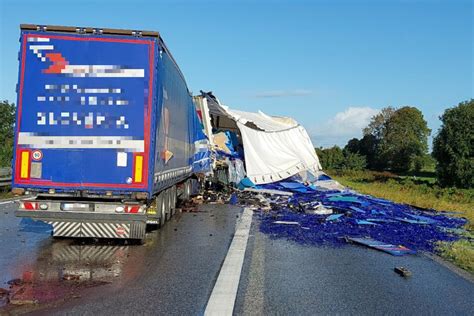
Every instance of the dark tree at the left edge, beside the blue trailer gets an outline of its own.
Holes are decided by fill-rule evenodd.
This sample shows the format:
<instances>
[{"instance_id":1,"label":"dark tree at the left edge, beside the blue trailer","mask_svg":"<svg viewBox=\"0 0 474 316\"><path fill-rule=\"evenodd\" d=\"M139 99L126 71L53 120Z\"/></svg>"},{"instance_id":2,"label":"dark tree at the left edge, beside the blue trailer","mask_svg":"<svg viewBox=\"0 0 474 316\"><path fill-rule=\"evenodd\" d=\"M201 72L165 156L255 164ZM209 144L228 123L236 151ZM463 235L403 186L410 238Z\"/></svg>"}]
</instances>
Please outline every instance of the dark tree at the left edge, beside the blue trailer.
<instances>
[{"instance_id":1,"label":"dark tree at the left edge, beside the blue trailer","mask_svg":"<svg viewBox=\"0 0 474 316\"><path fill-rule=\"evenodd\" d=\"M15 104L0 102L0 166L9 167L13 157Z\"/></svg>"}]
</instances>

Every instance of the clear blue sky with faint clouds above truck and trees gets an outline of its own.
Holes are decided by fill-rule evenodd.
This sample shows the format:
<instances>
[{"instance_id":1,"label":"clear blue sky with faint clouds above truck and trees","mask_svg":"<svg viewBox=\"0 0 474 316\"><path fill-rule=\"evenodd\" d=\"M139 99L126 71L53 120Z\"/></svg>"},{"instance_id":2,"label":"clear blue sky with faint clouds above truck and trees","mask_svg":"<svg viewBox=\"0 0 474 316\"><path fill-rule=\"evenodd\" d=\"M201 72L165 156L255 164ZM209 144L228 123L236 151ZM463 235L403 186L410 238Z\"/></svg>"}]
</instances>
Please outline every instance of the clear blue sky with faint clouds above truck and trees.
<instances>
[{"instance_id":1,"label":"clear blue sky with faint clouds above truck and trees","mask_svg":"<svg viewBox=\"0 0 474 316\"><path fill-rule=\"evenodd\" d=\"M189 89L290 116L315 146L362 136L386 106L419 108L432 135L474 96L469 0L0 0L0 99L16 103L19 25L159 31Z\"/></svg>"}]
</instances>

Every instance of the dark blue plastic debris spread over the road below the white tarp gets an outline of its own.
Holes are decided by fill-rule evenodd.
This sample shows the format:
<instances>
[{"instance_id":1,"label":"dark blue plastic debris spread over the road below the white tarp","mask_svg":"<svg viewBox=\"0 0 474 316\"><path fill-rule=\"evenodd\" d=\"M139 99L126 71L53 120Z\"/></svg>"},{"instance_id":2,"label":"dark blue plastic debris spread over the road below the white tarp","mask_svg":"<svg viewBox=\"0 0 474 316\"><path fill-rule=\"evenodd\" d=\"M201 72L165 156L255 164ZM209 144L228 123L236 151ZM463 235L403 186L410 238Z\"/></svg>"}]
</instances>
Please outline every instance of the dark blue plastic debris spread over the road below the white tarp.
<instances>
[{"instance_id":1,"label":"dark blue plastic debris spread over the road below the white tarp","mask_svg":"<svg viewBox=\"0 0 474 316\"><path fill-rule=\"evenodd\" d=\"M290 191L278 182L259 187ZM269 234L271 238L286 238L309 245L343 246L346 244L344 238L347 236L369 237L382 243L403 245L416 251L434 252L437 241L451 242L463 238L460 232L467 222L463 218L450 217L446 212L428 212L426 209L377 199L353 191L294 192L291 203L287 198L272 203L274 207L271 211L258 215L260 230ZM334 215L344 213L345 216L326 221L327 215L306 212L318 204L341 213ZM373 210L375 212L372 212ZM275 216L282 221L298 222L304 229L274 225Z\"/></svg>"}]
</instances>

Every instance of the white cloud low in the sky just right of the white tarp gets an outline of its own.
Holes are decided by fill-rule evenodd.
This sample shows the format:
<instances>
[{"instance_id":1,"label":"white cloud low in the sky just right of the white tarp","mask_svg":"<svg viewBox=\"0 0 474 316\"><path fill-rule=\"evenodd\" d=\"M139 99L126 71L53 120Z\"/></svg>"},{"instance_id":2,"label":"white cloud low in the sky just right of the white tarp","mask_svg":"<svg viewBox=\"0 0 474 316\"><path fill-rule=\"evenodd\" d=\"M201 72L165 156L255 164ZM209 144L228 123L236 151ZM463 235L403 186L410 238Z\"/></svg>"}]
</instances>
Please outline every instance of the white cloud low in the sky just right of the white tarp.
<instances>
[{"instance_id":1,"label":"white cloud low in the sky just right of the white tarp","mask_svg":"<svg viewBox=\"0 0 474 316\"><path fill-rule=\"evenodd\" d=\"M349 107L310 130L317 147L344 146L351 138L362 136L362 129L380 110L371 107Z\"/></svg>"}]
</instances>

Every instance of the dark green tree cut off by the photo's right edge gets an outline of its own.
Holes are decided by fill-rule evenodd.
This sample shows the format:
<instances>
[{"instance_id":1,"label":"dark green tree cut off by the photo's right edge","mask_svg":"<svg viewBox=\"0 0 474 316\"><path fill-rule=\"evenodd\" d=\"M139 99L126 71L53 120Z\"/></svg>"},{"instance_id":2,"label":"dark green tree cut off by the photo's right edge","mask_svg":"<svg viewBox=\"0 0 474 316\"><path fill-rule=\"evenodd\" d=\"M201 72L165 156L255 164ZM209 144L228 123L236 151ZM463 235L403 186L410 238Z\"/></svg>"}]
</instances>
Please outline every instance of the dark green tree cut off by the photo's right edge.
<instances>
[{"instance_id":1,"label":"dark green tree cut off by the photo's right edge","mask_svg":"<svg viewBox=\"0 0 474 316\"><path fill-rule=\"evenodd\" d=\"M474 187L474 99L447 109L433 141L438 182L443 186Z\"/></svg>"}]
</instances>

